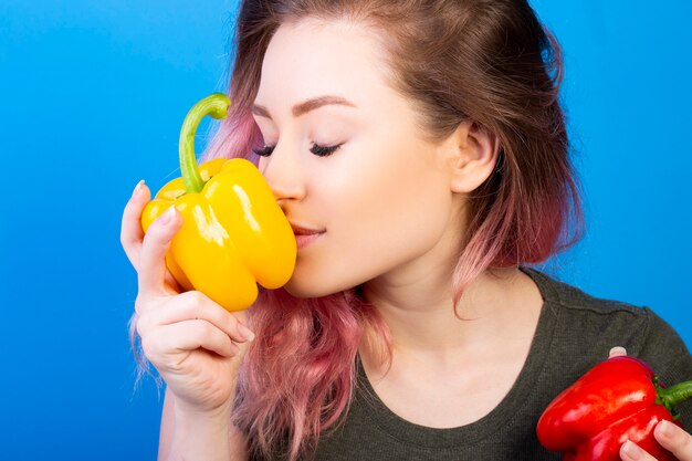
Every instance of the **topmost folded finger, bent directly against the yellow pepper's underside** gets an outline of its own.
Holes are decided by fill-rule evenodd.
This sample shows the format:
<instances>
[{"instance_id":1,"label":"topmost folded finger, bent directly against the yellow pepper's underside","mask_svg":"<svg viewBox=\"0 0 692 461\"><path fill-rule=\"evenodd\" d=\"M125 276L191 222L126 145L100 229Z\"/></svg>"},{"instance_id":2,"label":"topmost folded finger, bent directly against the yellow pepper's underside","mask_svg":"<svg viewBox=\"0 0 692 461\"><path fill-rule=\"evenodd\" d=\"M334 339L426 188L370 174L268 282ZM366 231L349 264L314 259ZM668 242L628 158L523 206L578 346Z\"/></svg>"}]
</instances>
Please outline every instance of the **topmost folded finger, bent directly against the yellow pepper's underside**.
<instances>
[{"instance_id":1,"label":"topmost folded finger, bent directly against the yellow pepper's underside","mask_svg":"<svg viewBox=\"0 0 692 461\"><path fill-rule=\"evenodd\" d=\"M244 343L254 339L254 334L233 314L198 291L175 296L158 308L138 319L139 334L159 325L171 325L190 319L203 319L226 333L233 342Z\"/></svg>"}]
</instances>

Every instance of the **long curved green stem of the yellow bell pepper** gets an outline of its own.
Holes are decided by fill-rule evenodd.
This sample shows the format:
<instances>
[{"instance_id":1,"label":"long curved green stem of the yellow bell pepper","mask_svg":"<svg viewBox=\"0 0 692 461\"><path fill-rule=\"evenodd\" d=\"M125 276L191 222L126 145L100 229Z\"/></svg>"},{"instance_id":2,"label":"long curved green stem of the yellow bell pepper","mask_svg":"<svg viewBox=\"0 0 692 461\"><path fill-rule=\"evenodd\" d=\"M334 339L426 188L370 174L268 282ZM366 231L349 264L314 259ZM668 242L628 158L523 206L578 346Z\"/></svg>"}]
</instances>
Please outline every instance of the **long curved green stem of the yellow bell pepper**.
<instances>
[{"instance_id":1,"label":"long curved green stem of the yellow bell pepper","mask_svg":"<svg viewBox=\"0 0 692 461\"><path fill-rule=\"evenodd\" d=\"M180 142L178 150L180 153L180 172L182 182L185 184L185 192L201 192L205 187L205 180L199 172L197 166L197 157L195 155L195 134L199 123L206 115L211 115L216 119L226 118L228 108L231 105L230 99L222 93L212 93L209 96L195 104L182 122L180 129Z\"/></svg>"}]
</instances>

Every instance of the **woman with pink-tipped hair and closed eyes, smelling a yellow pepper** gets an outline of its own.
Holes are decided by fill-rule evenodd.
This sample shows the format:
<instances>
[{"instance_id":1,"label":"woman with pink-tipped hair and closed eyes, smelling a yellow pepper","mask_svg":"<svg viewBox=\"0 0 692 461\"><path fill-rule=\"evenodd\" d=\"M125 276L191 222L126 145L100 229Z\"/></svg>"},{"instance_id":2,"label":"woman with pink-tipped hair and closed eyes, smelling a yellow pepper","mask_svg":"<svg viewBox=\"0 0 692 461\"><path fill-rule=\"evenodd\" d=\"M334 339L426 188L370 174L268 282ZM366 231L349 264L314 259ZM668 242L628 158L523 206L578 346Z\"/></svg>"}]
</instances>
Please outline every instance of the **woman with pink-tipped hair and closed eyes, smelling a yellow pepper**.
<instances>
[{"instance_id":1,"label":"woman with pink-tipped hair and closed eyes, smelling a yellow pepper","mask_svg":"<svg viewBox=\"0 0 692 461\"><path fill-rule=\"evenodd\" d=\"M256 163L296 268L247 313L180 294L164 264L180 217L144 238L137 187L122 240L167 384L159 458L557 460L537 418L611 346L691 379L651 311L526 268L580 229L560 75L524 1L244 1L206 158ZM692 460L683 430L657 437Z\"/></svg>"}]
</instances>

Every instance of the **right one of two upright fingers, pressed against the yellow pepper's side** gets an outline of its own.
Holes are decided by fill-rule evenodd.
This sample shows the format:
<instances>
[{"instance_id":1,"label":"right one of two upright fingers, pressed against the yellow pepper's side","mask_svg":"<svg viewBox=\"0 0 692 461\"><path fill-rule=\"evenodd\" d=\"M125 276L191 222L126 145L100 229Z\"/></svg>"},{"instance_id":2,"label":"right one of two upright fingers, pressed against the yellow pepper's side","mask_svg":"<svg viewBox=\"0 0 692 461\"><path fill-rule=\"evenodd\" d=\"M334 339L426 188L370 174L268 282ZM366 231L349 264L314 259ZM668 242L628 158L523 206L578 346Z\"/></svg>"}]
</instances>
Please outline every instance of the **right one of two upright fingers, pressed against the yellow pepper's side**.
<instances>
[{"instance_id":1,"label":"right one of two upright fingers, pressed against the yellow pepper's side","mask_svg":"<svg viewBox=\"0 0 692 461\"><path fill-rule=\"evenodd\" d=\"M176 207L170 207L147 230L139 253L137 269L139 293L144 297L169 295L166 291L166 253L180 229L182 218Z\"/></svg>"}]
</instances>

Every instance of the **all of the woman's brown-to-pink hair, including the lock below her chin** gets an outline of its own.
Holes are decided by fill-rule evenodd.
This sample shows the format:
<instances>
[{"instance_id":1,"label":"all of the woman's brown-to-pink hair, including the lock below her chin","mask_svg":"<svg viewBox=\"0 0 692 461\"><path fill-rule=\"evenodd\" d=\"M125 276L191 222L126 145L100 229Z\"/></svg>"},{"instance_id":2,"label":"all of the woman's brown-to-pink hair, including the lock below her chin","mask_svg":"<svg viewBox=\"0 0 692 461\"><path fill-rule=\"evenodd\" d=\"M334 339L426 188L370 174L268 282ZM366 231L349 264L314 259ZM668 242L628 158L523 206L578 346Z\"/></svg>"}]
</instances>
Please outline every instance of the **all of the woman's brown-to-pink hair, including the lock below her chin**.
<instances>
[{"instance_id":1,"label":"all of the woman's brown-to-pink hair, including the lock below her chin","mask_svg":"<svg viewBox=\"0 0 692 461\"><path fill-rule=\"evenodd\" d=\"M524 1L245 0L233 105L203 160L256 160L252 148L262 138L250 107L264 50L282 22L307 15L363 20L390 38L392 85L419 103L421 127L431 136L466 118L497 136L495 171L468 197L464 250L450 274L455 303L489 268L538 263L578 240L578 188L557 97L559 46ZM577 229L572 240L569 224ZM358 287L308 300L262 291L249 318L256 339L241 367L233 418L252 452L295 460L347 411L359 348L391 357L387 325Z\"/></svg>"}]
</instances>

